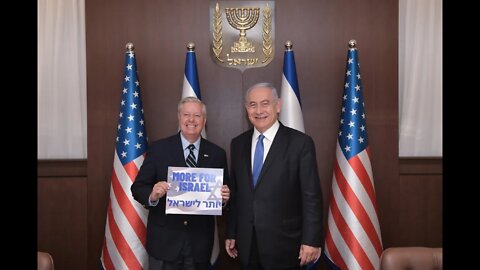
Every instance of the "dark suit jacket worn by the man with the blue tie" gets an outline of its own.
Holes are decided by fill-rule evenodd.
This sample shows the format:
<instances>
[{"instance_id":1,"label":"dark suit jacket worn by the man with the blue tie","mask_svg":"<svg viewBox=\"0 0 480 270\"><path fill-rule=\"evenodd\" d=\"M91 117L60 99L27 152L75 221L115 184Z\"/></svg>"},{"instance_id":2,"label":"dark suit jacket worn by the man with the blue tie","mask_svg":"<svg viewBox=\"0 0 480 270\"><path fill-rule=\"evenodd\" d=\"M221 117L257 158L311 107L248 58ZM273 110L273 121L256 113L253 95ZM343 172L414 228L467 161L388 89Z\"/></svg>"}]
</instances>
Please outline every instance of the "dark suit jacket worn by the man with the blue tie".
<instances>
[{"instance_id":1,"label":"dark suit jacket worn by the man with the blue tie","mask_svg":"<svg viewBox=\"0 0 480 270\"><path fill-rule=\"evenodd\" d=\"M315 145L310 136L280 123L253 188L252 134L250 129L231 142L227 238L236 239L240 261L247 264L255 228L266 269L298 266L301 244L322 245Z\"/></svg>"}]
</instances>

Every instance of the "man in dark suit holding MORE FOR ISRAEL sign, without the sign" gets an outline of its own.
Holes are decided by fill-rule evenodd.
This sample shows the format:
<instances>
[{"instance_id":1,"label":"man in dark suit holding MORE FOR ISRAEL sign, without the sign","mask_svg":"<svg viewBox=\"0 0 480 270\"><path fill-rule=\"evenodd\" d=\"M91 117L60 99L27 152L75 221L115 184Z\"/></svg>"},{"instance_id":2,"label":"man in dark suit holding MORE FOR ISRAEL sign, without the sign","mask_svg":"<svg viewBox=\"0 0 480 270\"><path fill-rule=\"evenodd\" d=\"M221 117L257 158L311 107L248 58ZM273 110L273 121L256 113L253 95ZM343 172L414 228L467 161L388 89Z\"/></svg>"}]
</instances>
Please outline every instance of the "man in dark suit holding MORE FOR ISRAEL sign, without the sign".
<instances>
[{"instance_id":1,"label":"man in dark suit holding MORE FOR ISRAEL sign, without the sign","mask_svg":"<svg viewBox=\"0 0 480 270\"><path fill-rule=\"evenodd\" d=\"M180 132L149 146L131 186L135 200L150 210L147 252L151 270L209 268L215 231L214 217L165 214L169 166L222 168L224 183L228 183L225 150L200 136L206 121L207 111L202 101L195 97L182 99L178 104ZM191 145L195 148L190 149ZM227 185L222 186L221 194L222 201L226 203L230 196Z\"/></svg>"}]
</instances>

